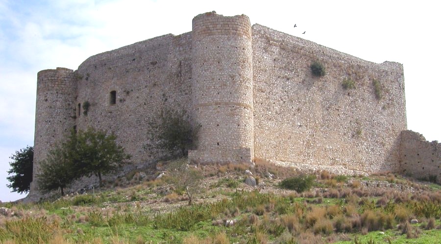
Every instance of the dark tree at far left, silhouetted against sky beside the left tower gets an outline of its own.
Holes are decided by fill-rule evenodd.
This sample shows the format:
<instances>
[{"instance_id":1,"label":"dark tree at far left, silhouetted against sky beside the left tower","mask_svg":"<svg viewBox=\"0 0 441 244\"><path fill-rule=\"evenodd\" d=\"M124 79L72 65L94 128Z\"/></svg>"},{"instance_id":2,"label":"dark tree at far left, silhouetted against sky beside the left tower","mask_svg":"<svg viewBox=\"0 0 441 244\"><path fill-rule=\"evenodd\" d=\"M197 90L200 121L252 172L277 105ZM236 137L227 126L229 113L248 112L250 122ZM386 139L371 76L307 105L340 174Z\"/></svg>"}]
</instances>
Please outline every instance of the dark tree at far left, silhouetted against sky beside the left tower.
<instances>
[{"instance_id":1,"label":"dark tree at far left, silhouetted against sky beside the left tower","mask_svg":"<svg viewBox=\"0 0 441 244\"><path fill-rule=\"evenodd\" d=\"M11 188L12 192L28 193L32 181L34 147L26 146L20 149L20 151L16 151L9 158L13 162L9 162L11 169L8 171L8 174L13 175L6 177L11 182L11 184L6 186Z\"/></svg>"}]
</instances>

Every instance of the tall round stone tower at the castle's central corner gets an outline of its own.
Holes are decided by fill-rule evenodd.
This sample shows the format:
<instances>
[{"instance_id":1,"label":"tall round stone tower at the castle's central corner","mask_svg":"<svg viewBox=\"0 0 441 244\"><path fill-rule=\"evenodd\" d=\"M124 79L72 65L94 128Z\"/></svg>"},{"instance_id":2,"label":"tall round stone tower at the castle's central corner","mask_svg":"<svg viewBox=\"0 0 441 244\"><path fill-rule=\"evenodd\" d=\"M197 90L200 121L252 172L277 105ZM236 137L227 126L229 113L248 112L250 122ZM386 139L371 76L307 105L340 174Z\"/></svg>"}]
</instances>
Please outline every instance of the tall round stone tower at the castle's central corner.
<instances>
[{"instance_id":1,"label":"tall round stone tower at the castle's central corner","mask_svg":"<svg viewBox=\"0 0 441 244\"><path fill-rule=\"evenodd\" d=\"M193 19L193 112L199 163L250 163L254 157L251 24L216 12Z\"/></svg>"}]
</instances>

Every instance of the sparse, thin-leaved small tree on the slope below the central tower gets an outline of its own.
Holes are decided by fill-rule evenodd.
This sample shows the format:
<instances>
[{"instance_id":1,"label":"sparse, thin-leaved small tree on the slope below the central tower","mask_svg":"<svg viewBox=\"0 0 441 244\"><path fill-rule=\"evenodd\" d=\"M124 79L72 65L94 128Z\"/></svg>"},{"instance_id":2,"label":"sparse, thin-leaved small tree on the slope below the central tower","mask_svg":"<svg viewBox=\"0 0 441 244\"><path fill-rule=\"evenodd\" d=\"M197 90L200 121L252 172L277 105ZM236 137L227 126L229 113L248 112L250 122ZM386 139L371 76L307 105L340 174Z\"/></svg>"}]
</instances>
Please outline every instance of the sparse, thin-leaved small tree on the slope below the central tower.
<instances>
[{"instance_id":1,"label":"sparse, thin-leaved small tree on the slope below the central tower","mask_svg":"<svg viewBox=\"0 0 441 244\"><path fill-rule=\"evenodd\" d=\"M188 205L192 205L195 195L201 189L202 173L188 165L186 158L174 161L169 166L169 171L168 181L176 187L177 191L185 192L188 196Z\"/></svg>"}]
</instances>

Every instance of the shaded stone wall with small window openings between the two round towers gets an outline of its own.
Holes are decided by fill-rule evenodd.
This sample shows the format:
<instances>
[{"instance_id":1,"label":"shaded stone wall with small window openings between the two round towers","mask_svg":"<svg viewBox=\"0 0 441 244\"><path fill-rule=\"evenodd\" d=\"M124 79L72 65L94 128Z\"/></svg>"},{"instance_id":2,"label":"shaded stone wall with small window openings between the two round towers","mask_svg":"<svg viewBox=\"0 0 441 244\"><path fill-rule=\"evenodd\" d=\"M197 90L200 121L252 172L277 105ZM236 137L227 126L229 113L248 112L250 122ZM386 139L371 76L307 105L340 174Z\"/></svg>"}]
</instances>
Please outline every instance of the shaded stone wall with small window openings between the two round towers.
<instances>
[{"instance_id":1,"label":"shaded stone wall with small window openings between the two round towers","mask_svg":"<svg viewBox=\"0 0 441 244\"><path fill-rule=\"evenodd\" d=\"M143 163L162 156L144 149L149 123L163 109L190 111L191 33L172 34L100 53L84 61L77 70L76 104L90 103L77 113L79 129L88 126L114 132L118 143ZM116 92L115 104L110 93Z\"/></svg>"}]
</instances>

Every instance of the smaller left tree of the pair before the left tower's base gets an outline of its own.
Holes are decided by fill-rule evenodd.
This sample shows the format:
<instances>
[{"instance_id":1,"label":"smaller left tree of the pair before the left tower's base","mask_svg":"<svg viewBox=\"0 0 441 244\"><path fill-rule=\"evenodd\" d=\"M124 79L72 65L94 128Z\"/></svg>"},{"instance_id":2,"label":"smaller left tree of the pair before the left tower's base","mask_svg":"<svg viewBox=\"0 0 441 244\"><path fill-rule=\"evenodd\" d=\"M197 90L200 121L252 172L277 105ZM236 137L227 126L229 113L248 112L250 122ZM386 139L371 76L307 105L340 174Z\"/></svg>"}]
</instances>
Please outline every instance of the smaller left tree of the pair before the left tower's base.
<instances>
[{"instance_id":1,"label":"smaller left tree of the pair before the left tower's base","mask_svg":"<svg viewBox=\"0 0 441 244\"><path fill-rule=\"evenodd\" d=\"M64 189L78 177L74 169L74 161L69 156L72 153L67 147L68 143L56 146L50 150L46 160L40 163L40 173L37 175L38 186L41 191L48 193L60 189L64 195Z\"/></svg>"}]
</instances>

